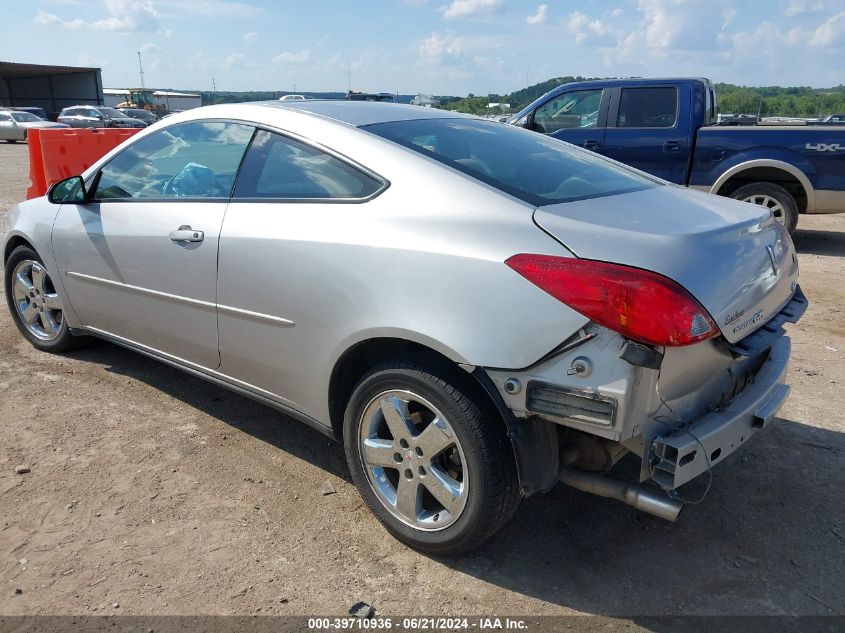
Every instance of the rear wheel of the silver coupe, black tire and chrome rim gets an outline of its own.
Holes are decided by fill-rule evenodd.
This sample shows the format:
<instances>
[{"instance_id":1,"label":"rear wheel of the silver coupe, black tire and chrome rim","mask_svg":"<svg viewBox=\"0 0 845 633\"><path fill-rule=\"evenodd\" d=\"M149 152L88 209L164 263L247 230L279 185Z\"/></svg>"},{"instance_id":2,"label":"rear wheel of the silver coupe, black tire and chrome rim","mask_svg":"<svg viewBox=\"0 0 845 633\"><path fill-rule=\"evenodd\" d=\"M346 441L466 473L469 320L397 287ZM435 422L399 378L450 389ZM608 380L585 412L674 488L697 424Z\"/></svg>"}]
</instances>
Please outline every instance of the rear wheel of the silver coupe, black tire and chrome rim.
<instances>
[{"instance_id":1,"label":"rear wheel of the silver coupe, black tire and chrome rim","mask_svg":"<svg viewBox=\"0 0 845 633\"><path fill-rule=\"evenodd\" d=\"M429 554L457 554L495 533L519 503L504 424L426 356L394 359L355 387L344 416L346 460L388 532Z\"/></svg>"}]
</instances>

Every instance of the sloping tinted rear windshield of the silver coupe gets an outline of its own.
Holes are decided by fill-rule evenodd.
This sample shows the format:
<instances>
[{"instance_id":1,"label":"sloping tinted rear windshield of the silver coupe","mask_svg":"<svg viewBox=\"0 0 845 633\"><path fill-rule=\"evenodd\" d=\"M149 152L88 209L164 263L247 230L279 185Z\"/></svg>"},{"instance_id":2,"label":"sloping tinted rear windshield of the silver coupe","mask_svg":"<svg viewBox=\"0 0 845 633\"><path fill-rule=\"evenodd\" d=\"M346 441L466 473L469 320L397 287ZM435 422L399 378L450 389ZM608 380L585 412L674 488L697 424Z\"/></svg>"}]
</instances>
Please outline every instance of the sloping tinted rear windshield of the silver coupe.
<instances>
[{"instance_id":1,"label":"sloping tinted rear windshield of the silver coupe","mask_svg":"<svg viewBox=\"0 0 845 633\"><path fill-rule=\"evenodd\" d=\"M494 121L418 119L363 129L536 206L638 191L658 183L569 143Z\"/></svg>"}]
</instances>

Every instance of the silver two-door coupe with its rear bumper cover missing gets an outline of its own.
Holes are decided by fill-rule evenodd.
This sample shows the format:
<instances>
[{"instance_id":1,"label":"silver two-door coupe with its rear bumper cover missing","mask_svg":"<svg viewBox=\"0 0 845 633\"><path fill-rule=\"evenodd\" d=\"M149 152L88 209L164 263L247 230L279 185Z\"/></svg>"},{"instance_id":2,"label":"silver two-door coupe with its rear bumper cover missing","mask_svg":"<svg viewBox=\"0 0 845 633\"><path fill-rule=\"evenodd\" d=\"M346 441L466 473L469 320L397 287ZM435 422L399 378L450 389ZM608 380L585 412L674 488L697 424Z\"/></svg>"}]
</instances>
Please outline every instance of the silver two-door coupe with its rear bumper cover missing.
<instances>
[{"instance_id":1,"label":"silver two-door coupe with its rear bumper cover missing","mask_svg":"<svg viewBox=\"0 0 845 633\"><path fill-rule=\"evenodd\" d=\"M343 441L438 554L559 481L675 520L783 403L807 305L766 209L397 104L174 115L7 229L36 348L100 337ZM604 476L629 453L637 481Z\"/></svg>"}]
</instances>

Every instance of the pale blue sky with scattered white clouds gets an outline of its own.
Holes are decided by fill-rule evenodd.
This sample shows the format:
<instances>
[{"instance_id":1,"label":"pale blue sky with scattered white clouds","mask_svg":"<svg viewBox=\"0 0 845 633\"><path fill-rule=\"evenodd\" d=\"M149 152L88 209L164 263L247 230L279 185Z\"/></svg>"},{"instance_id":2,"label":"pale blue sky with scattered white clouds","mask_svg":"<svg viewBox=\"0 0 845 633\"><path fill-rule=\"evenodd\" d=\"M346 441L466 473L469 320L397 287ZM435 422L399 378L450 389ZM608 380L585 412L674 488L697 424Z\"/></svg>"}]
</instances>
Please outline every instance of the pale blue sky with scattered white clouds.
<instances>
[{"instance_id":1,"label":"pale blue sky with scattered white clouds","mask_svg":"<svg viewBox=\"0 0 845 633\"><path fill-rule=\"evenodd\" d=\"M845 83L845 0L26 0L0 58L106 87L508 93L559 75ZM351 72L350 72L351 71Z\"/></svg>"}]
</instances>

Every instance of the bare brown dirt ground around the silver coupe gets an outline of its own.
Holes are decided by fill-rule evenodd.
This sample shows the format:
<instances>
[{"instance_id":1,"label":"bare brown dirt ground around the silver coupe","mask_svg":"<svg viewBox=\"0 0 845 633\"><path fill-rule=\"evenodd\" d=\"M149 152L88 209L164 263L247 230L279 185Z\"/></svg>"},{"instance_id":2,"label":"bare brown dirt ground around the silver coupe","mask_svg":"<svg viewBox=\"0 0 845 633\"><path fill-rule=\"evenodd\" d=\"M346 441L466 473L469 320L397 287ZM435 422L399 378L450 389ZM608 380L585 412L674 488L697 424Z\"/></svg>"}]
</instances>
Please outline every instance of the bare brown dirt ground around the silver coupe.
<instances>
[{"instance_id":1,"label":"bare brown dirt ground around the silver coupe","mask_svg":"<svg viewBox=\"0 0 845 633\"><path fill-rule=\"evenodd\" d=\"M0 214L26 170L0 146ZM460 559L390 538L318 433L106 343L36 352L4 302L0 614L843 614L845 215L800 226L792 396L703 503L673 525L558 486Z\"/></svg>"}]
</instances>

